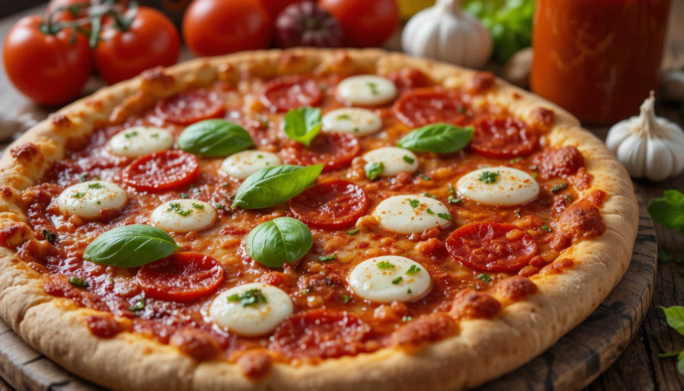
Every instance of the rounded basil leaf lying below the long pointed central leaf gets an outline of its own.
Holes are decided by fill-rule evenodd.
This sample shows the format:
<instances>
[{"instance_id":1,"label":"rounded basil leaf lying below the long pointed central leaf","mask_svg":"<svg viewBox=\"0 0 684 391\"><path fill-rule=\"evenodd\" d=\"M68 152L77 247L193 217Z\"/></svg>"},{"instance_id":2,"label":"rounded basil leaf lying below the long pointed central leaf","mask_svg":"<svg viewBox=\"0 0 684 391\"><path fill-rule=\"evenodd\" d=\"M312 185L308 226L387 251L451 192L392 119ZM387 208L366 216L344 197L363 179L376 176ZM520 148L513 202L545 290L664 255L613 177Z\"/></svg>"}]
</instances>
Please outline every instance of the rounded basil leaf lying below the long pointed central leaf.
<instances>
[{"instance_id":1,"label":"rounded basil leaf lying below the long pointed central leaf","mask_svg":"<svg viewBox=\"0 0 684 391\"><path fill-rule=\"evenodd\" d=\"M311 231L300 220L278 217L254 227L247 236L245 249L255 261L269 268L281 268L285 262L297 262L311 249Z\"/></svg>"}]
</instances>

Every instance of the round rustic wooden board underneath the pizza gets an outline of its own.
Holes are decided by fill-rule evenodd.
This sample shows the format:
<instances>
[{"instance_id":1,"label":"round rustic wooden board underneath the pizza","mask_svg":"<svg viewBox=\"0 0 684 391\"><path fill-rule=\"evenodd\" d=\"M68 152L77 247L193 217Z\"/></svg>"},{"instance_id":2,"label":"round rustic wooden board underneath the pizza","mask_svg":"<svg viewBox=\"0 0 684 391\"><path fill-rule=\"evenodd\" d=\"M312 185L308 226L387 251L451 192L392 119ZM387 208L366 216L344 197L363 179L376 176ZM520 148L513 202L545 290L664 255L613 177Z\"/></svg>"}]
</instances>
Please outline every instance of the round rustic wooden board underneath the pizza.
<instances>
[{"instance_id":1,"label":"round rustic wooden board underneath the pizza","mask_svg":"<svg viewBox=\"0 0 684 391\"><path fill-rule=\"evenodd\" d=\"M599 308L551 349L522 368L485 384L479 391L579 390L617 360L637 333L655 285L655 230L641 197L639 214L639 233L629 269ZM102 389L71 375L32 349L2 320L0 376L17 390ZM3 383L0 391L4 391Z\"/></svg>"}]
</instances>

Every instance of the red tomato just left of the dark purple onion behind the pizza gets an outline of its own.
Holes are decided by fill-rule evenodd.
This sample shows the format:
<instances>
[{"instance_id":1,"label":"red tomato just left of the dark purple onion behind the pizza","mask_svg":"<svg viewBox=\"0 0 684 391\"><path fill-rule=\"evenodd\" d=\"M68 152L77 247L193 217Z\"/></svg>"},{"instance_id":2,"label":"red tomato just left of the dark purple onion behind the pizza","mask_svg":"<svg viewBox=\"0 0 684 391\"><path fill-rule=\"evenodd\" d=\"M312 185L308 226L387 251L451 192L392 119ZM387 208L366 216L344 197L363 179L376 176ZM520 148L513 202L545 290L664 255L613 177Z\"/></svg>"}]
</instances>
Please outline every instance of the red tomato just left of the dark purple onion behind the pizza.
<instances>
[{"instance_id":1,"label":"red tomato just left of the dark purple onion behind the pizza","mask_svg":"<svg viewBox=\"0 0 684 391\"><path fill-rule=\"evenodd\" d=\"M196 55L266 49L272 32L259 0L194 0L183 16L183 38Z\"/></svg>"}]
</instances>

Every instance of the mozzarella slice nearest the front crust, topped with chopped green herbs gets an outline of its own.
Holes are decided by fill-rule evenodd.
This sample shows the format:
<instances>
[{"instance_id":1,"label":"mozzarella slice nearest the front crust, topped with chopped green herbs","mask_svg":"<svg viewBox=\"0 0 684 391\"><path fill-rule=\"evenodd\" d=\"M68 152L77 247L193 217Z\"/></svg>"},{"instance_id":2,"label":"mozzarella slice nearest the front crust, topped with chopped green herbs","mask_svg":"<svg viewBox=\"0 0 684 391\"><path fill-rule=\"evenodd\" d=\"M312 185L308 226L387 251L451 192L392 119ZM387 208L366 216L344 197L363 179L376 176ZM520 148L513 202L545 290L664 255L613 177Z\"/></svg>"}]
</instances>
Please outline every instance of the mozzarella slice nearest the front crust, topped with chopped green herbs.
<instances>
[{"instance_id":1,"label":"mozzarella slice nearest the front crust, topped with chopped green herbs","mask_svg":"<svg viewBox=\"0 0 684 391\"><path fill-rule=\"evenodd\" d=\"M219 294L209 306L209 318L241 336L263 336L274 331L293 311L292 299L280 288L246 283Z\"/></svg>"}]
</instances>

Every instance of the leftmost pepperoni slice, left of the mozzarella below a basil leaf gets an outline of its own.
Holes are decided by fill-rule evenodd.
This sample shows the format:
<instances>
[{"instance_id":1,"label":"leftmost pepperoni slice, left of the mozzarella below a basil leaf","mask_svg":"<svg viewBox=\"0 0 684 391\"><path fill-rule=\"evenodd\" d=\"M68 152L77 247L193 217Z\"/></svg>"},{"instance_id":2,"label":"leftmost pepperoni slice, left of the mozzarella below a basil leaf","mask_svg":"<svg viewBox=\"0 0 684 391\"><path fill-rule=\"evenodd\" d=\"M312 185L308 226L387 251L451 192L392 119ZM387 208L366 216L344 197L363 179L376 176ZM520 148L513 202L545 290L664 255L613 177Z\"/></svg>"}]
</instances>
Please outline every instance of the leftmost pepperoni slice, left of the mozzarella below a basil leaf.
<instances>
[{"instance_id":1,"label":"leftmost pepperoni slice, left of the mozzarella below a basil leaf","mask_svg":"<svg viewBox=\"0 0 684 391\"><path fill-rule=\"evenodd\" d=\"M142 192L161 192L192 184L200 172L195 155L161 151L140 156L121 175L125 184Z\"/></svg>"}]
</instances>

